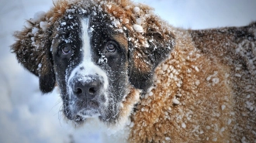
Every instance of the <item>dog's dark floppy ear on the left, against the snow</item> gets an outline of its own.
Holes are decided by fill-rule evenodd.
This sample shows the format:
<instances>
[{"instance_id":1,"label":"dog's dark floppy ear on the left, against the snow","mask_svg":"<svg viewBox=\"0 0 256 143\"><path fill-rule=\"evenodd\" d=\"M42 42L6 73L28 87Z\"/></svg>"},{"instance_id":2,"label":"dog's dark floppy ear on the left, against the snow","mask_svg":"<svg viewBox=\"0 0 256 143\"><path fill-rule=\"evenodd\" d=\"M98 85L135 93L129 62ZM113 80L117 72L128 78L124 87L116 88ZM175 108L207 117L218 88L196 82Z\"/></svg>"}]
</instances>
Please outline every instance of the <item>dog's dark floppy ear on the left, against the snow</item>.
<instances>
[{"instance_id":1,"label":"dog's dark floppy ear on the left, against the snow","mask_svg":"<svg viewBox=\"0 0 256 143\"><path fill-rule=\"evenodd\" d=\"M11 46L12 53L27 70L39 77L40 90L49 93L55 86L55 74L50 47L51 28L44 13L37 19L30 19L29 26L16 32L16 43Z\"/></svg>"}]
</instances>

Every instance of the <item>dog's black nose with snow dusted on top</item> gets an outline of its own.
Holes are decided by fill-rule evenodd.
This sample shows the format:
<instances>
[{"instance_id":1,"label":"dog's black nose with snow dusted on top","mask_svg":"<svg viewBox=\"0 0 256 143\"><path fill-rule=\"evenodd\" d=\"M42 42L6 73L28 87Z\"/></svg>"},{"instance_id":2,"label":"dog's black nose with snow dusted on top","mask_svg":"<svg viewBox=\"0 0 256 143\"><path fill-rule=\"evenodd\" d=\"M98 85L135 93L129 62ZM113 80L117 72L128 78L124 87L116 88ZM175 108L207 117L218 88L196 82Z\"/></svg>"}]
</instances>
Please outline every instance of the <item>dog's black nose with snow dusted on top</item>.
<instances>
[{"instance_id":1,"label":"dog's black nose with snow dusted on top","mask_svg":"<svg viewBox=\"0 0 256 143\"><path fill-rule=\"evenodd\" d=\"M102 82L99 77L87 76L77 77L74 80L73 92L79 99L92 99L102 88Z\"/></svg>"}]
</instances>

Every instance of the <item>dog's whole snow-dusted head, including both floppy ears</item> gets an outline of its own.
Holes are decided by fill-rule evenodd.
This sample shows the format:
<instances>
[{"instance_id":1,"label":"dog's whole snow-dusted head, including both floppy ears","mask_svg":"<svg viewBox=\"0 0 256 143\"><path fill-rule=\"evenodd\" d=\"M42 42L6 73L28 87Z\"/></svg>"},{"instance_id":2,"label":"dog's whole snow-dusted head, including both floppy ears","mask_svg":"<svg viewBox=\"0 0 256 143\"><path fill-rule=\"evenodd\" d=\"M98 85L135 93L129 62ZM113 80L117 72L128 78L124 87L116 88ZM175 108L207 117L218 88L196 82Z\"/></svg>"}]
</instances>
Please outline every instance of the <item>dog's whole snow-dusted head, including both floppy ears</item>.
<instances>
[{"instance_id":1,"label":"dog's whole snow-dusted head, including both floppy ears","mask_svg":"<svg viewBox=\"0 0 256 143\"><path fill-rule=\"evenodd\" d=\"M39 77L43 93L59 87L64 114L77 123L119 121L174 46L150 8L128 1L61 1L29 25L16 32L13 53Z\"/></svg>"}]
</instances>

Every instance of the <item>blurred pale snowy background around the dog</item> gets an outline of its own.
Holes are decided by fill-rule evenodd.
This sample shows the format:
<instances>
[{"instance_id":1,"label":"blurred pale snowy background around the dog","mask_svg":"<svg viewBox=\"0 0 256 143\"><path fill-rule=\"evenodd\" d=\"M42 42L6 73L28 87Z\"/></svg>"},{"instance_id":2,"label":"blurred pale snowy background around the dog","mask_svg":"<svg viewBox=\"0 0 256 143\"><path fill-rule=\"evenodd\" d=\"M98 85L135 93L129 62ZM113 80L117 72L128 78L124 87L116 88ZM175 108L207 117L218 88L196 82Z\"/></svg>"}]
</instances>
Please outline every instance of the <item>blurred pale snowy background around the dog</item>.
<instances>
[{"instance_id":1,"label":"blurred pale snowy background around the dog","mask_svg":"<svg viewBox=\"0 0 256 143\"><path fill-rule=\"evenodd\" d=\"M136 0L155 8L171 25L185 29L245 26L256 20L255 0ZM93 127L74 129L59 114L61 97L40 94L38 79L23 70L9 46L12 33L25 19L47 12L52 0L0 2L0 142L84 143L104 142Z\"/></svg>"}]
</instances>

